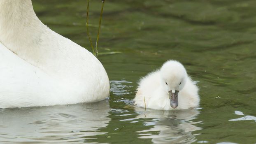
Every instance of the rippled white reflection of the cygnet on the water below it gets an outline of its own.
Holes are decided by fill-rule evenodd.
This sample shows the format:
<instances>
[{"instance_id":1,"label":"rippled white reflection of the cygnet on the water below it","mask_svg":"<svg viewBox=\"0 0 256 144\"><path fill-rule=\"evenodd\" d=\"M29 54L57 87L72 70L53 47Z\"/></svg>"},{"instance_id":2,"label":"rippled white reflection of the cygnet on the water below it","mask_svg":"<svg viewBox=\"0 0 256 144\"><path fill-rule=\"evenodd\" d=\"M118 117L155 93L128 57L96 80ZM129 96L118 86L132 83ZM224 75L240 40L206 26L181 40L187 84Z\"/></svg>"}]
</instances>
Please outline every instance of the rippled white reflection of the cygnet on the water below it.
<instances>
[{"instance_id":1,"label":"rippled white reflection of the cygnet on the water below it","mask_svg":"<svg viewBox=\"0 0 256 144\"><path fill-rule=\"evenodd\" d=\"M157 144L163 143L192 143L195 142L195 135L191 132L200 130L195 124L200 122L192 121L200 112L196 109L181 111L158 111L147 109L141 111L139 118L153 118L144 123L152 125L149 130L138 131L143 139L152 139ZM159 132L158 132L159 131ZM157 134L156 134L157 133Z\"/></svg>"}]
</instances>

